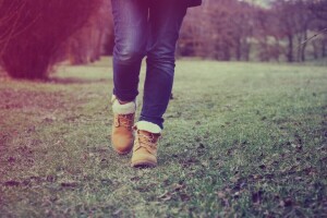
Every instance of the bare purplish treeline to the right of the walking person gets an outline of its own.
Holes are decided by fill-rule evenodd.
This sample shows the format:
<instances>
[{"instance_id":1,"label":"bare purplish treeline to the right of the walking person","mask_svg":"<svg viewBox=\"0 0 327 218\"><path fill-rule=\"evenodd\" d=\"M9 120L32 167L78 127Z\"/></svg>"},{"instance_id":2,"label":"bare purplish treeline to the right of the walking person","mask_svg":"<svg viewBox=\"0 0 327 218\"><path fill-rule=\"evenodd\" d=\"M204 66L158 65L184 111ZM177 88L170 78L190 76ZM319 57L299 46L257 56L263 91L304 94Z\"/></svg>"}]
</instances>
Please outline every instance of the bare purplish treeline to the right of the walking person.
<instances>
[{"instance_id":1,"label":"bare purplish treeline to the right of the walking person","mask_svg":"<svg viewBox=\"0 0 327 218\"><path fill-rule=\"evenodd\" d=\"M305 61L326 57L326 0L205 0L189 11L179 52L216 60Z\"/></svg>"}]
</instances>

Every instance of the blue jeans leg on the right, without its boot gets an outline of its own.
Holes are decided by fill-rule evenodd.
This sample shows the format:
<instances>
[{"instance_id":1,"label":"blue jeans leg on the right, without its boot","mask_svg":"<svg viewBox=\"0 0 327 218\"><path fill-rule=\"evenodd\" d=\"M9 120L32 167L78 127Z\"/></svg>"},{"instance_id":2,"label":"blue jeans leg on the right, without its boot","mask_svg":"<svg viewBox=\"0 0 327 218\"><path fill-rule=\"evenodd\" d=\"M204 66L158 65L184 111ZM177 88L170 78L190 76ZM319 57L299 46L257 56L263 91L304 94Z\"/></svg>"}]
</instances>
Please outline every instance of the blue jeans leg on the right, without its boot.
<instances>
[{"instance_id":1,"label":"blue jeans leg on the right, without its boot","mask_svg":"<svg viewBox=\"0 0 327 218\"><path fill-rule=\"evenodd\" d=\"M160 129L172 89L175 44L186 13L186 5L181 2L158 0L149 3L147 71L140 121L155 123Z\"/></svg>"}]
</instances>

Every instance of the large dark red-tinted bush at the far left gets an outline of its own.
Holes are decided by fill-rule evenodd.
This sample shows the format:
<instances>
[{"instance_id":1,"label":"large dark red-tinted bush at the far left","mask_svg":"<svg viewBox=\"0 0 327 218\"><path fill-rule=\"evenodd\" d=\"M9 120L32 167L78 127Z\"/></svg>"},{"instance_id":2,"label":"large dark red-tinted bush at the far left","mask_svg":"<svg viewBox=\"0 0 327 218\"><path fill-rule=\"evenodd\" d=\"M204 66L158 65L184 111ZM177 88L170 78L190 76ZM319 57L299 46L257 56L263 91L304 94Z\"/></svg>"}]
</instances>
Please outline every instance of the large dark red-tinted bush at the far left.
<instances>
[{"instance_id":1,"label":"large dark red-tinted bush at the far left","mask_svg":"<svg viewBox=\"0 0 327 218\"><path fill-rule=\"evenodd\" d=\"M12 5L22 0L1 0L0 11L10 17ZM62 46L100 5L99 0L33 0L15 11L15 34L5 36L0 64L12 77L46 78L51 66L62 60ZM1 24L3 33L12 32L10 19Z\"/></svg>"}]
</instances>

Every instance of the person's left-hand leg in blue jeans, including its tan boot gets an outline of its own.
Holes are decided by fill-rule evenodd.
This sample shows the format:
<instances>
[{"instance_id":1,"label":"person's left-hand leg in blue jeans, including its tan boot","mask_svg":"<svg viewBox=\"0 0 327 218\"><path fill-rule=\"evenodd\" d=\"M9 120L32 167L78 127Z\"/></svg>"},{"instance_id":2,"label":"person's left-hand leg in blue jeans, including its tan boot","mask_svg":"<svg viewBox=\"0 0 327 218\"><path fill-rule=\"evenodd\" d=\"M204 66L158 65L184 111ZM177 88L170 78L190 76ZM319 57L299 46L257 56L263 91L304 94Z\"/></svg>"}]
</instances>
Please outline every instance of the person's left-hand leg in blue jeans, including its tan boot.
<instances>
[{"instance_id":1,"label":"person's left-hand leg in blue jeans, including its tan boot","mask_svg":"<svg viewBox=\"0 0 327 218\"><path fill-rule=\"evenodd\" d=\"M148 4L146 0L111 0L114 23L113 123L111 145L119 154L133 147L133 125L138 75L146 49Z\"/></svg>"}]
</instances>

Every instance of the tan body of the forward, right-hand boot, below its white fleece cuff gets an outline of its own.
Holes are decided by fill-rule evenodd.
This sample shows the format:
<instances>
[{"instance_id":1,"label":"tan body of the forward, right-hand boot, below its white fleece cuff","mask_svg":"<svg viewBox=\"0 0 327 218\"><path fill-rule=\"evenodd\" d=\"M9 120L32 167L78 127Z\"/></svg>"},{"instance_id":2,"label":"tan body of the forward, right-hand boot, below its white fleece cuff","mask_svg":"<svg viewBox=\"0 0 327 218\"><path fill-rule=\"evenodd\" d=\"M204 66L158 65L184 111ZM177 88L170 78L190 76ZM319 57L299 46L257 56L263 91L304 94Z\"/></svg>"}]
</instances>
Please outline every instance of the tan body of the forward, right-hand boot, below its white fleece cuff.
<instances>
[{"instance_id":1,"label":"tan body of the forward, right-hand boot, below its white fleece cuff","mask_svg":"<svg viewBox=\"0 0 327 218\"><path fill-rule=\"evenodd\" d=\"M157 147L160 133L152 133L134 126L135 140L132 156L132 167L156 167Z\"/></svg>"}]
</instances>

